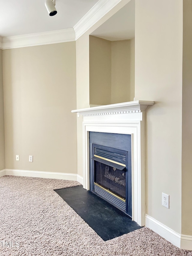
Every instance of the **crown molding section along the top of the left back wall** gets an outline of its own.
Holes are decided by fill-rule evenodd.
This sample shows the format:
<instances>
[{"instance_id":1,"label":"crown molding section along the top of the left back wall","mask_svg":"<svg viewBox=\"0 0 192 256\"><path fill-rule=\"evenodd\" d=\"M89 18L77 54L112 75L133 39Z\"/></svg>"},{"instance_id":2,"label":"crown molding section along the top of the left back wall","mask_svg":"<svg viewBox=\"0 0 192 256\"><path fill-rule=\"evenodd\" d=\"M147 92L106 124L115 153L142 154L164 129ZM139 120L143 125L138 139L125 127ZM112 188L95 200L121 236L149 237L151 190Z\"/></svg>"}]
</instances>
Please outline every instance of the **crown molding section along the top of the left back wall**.
<instances>
[{"instance_id":1,"label":"crown molding section along the top of the left back wall","mask_svg":"<svg viewBox=\"0 0 192 256\"><path fill-rule=\"evenodd\" d=\"M43 44L57 44L70 41L75 41L75 32L73 28L4 37L2 38L2 43L0 38L0 47L1 49L5 50Z\"/></svg>"}]
</instances>

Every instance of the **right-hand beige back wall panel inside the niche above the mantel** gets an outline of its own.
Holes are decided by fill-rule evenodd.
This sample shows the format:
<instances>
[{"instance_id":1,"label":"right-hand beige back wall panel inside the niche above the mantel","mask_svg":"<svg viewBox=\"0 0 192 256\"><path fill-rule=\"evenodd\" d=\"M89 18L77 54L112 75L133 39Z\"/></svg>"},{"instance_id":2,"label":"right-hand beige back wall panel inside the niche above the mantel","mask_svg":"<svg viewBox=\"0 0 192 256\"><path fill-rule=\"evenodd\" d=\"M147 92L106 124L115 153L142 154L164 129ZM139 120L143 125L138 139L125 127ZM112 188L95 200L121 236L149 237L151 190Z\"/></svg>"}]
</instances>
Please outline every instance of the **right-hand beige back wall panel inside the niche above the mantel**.
<instances>
[{"instance_id":1,"label":"right-hand beige back wall panel inside the niche above the mantel","mask_svg":"<svg viewBox=\"0 0 192 256\"><path fill-rule=\"evenodd\" d=\"M130 40L111 42L111 103L130 101Z\"/></svg>"}]
</instances>

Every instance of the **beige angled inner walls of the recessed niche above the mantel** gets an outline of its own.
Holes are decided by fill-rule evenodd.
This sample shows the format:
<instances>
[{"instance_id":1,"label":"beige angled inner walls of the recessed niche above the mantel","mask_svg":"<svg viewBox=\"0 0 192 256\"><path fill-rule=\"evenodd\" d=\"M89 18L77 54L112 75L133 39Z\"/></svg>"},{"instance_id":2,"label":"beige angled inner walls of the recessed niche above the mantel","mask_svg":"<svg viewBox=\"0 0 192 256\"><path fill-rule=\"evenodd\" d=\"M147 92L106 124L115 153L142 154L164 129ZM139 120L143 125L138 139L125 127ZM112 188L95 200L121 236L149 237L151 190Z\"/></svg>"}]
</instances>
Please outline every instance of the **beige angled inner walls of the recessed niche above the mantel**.
<instances>
[{"instance_id":1,"label":"beige angled inner walls of the recessed niche above the mantel","mask_svg":"<svg viewBox=\"0 0 192 256\"><path fill-rule=\"evenodd\" d=\"M134 93L133 69L131 40L108 41L89 36L90 104L107 105L130 101L130 93Z\"/></svg>"}]
</instances>

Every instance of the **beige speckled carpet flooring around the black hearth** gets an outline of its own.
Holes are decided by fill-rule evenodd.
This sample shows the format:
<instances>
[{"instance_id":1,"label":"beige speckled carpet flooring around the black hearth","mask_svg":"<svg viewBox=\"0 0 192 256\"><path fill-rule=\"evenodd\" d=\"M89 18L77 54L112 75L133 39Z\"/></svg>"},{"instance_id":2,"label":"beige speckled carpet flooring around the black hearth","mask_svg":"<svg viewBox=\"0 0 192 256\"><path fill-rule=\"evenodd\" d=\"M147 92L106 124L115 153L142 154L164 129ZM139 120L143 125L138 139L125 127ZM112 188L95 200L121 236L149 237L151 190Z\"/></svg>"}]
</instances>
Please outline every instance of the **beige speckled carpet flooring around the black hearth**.
<instances>
[{"instance_id":1,"label":"beige speckled carpet flooring around the black hearth","mask_svg":"<svg viewBox=\"0 0 192 256\"><path fill-rule=\"evenodd\" d=\"M66 180L1 177L0 256L192 256L192 251L180 250L145 227L104 242L53 191L77 185Z\"/></svg>"}]
</instances>

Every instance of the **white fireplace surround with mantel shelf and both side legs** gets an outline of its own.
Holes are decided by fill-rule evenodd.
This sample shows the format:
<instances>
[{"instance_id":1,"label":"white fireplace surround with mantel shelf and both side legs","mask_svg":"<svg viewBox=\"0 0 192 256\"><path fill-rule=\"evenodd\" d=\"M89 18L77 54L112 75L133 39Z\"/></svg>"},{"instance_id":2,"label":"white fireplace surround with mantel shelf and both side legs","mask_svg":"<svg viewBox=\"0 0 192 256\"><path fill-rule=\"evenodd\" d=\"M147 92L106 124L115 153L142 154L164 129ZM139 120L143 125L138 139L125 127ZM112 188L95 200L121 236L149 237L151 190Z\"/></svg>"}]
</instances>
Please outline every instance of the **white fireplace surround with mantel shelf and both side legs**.
<instances>
[{"instance_id":1,"label":"white fireplace surround with mantel shelf and both side legs","mask_svg":"<svg viewBox=\"0 0 192 256\"><path fill-rule=\"evenodd\" d=\"M154 101L72 110L83 116L83 187L89 190L89 131L131 134L132 219L145 225L145 112Z\"/></svg>"}]
</instances>

